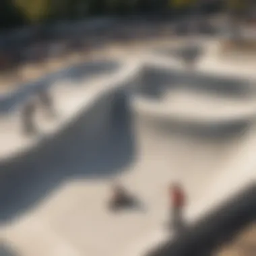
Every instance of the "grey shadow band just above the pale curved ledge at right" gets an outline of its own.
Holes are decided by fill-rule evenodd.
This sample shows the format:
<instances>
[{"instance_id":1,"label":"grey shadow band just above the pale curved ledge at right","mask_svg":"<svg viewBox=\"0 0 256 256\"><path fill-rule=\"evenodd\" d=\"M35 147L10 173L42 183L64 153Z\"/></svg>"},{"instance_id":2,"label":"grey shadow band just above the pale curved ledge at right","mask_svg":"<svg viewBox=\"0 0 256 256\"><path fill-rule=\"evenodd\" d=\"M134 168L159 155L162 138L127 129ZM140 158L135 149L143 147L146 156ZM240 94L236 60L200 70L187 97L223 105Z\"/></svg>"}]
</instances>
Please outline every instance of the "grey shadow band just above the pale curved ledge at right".
<instances>
[{"instance_id":1,"label":"grey shadow band just above the pale curved ledge at right","mask_svg":"<svg viewBox=\"0 0 256 256\"><path fill-rule=\"evenodd\" d=\"M167 89L177 88L232 98L255 94L247 79L150 66L145 68L137 92L151 98L160 98Z\"/></svg>"}]
</instances>

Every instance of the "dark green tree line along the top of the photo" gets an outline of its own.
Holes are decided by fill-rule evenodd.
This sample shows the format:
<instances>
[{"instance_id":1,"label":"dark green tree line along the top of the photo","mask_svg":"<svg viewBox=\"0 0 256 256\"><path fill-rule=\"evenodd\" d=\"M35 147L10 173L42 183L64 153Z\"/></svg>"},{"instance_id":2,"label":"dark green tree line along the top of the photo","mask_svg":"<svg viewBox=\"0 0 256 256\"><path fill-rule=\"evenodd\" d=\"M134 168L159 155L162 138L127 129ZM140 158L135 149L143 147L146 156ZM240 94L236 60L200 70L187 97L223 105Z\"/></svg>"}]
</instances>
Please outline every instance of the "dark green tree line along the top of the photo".
<instances>
[{"instance_id":1,"label":"dark green tree line along the top of the photo","mask_svg":"<svg viewBox=\"0 0 256 256\"><path fill-rule=\"evenodd\" d=\"M0 28L77 20L97 15L141 13L176 15L185 13L200 1L205 9L220 6L219 1L202 0L1 0Z\"/></svg>"}]
</instances>

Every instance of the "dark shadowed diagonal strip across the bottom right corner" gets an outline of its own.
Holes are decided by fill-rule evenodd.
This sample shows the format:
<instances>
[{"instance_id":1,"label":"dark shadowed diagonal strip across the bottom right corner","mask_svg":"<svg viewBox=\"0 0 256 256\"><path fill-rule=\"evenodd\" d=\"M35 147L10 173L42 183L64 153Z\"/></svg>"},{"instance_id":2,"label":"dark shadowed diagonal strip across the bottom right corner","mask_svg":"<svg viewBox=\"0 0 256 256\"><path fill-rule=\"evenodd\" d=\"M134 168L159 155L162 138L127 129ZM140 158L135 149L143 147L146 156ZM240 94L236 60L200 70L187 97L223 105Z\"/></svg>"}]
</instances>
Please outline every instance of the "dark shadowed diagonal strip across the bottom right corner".
<instances>
[{"instance_id":1,"label":"dark shadowed diagonal strip across the bottom right corner","mask_svg":"<svg viewBox=\"0 0 256 256\"><path fill-rule=\"evenodd\" d=\"M235 171L235 170L234 170ZM248 224L256 220L256 184L226 201L172 241L159 245L146 256L210 256L232 241Z\"/></svg>"}]
</instances>

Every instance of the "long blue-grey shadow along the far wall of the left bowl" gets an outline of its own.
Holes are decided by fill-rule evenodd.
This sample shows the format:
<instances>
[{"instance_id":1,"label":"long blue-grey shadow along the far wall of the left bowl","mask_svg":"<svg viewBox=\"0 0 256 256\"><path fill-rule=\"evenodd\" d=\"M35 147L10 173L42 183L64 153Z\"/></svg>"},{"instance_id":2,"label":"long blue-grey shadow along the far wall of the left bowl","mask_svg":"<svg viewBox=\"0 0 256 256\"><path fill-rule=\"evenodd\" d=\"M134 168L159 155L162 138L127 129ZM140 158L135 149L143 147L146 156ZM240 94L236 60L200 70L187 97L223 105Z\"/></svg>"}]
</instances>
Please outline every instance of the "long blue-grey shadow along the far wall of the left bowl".
<instances>
[{"instance_id":1,"label":"long blue-grey shadow along the far wall of the left bowl","mask_svg":"<svg viewBox=\"0 0 256 256\"><path fill-rule=\"evenodd\" d=\"M31 96L36 95L38 90L50 88L58 81L71 80L73 82L78 82L82 79L85 80L95 77L96 75L111 73L117 70L119 66L120 63L111 61L110 59L89 61L72 65L72 67L67 67L61 71L49 73L34 82L20 84L18 90L15 90L11 94L7 94L7 96L0 97L0 115L9 114Z\"/></svg>"}]
</instances>

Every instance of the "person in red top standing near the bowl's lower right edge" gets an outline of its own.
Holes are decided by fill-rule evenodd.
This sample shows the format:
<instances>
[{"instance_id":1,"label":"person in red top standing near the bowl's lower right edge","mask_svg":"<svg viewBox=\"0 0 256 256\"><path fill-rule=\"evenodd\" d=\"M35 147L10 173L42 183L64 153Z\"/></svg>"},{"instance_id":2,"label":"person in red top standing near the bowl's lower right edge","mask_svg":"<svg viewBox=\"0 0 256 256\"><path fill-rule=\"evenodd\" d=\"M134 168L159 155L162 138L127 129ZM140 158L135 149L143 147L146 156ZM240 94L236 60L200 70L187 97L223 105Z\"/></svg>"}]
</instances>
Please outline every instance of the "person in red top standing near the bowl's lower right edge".
<instances>
[{"instance_id":1,"label":"person in red top standing near the bowl's lower right edge","mask_svg":"<svg viewBox=\"0 0 256 256\"><path fill-rule=\"evenodd\" d=\"M183 208L185 206L185 194L179 183L173 183L169 187L171 225L179 232L183 227Z\"/></svg>"}]
</instances>

